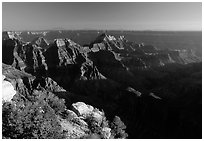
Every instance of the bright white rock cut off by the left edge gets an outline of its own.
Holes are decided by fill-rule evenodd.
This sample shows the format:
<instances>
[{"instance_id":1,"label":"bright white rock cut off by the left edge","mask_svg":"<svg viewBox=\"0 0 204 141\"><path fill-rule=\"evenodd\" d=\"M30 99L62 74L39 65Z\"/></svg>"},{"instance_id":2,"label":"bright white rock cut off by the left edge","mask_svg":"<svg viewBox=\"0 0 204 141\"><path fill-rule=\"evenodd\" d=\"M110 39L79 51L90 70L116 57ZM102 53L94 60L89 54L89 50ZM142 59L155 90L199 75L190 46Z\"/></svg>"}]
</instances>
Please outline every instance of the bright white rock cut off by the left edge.
<instances>
[{"instance_id":1,"label":"bright white rock cut off by the left edge","mask_svg":"<svg viewBox=\"0 0 204 141\"><path fill-rule=\"evenodd\" d=\"M2 100L5 102L10 102L13 96L16 94L13 85L5 80L5 76L2 75Z\"/></svg>"}]
</instances>

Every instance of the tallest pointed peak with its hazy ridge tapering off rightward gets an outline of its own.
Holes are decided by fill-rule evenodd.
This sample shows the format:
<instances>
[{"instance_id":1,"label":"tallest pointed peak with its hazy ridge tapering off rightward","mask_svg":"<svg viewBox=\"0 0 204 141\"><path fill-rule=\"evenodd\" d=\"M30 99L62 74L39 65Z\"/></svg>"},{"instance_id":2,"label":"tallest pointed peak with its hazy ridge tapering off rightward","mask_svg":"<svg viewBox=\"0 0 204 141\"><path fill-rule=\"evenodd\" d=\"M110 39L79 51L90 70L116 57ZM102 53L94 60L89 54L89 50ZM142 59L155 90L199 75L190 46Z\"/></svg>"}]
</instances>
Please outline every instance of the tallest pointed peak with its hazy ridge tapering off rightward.
<instances>
[{"instance_id":1,"label":"tallest pointed peak with its hazy ridge tapering off rightward","mask_svg":"<svg viewBox=\"0 0 204 141\"><path fill-rule=\"evenodd\" d=\"M121 36L116 39L106 34L98 36L90 44L90 48L94 53L100 50L114 52L115 56L120 56L120 61L127 67L131 67L132 62L138 62L137 67L145 68L168 63L188 64L200 61L199 57L187 50L159 50L152 45L140 45Z\"/></svg>"}]
</instances>

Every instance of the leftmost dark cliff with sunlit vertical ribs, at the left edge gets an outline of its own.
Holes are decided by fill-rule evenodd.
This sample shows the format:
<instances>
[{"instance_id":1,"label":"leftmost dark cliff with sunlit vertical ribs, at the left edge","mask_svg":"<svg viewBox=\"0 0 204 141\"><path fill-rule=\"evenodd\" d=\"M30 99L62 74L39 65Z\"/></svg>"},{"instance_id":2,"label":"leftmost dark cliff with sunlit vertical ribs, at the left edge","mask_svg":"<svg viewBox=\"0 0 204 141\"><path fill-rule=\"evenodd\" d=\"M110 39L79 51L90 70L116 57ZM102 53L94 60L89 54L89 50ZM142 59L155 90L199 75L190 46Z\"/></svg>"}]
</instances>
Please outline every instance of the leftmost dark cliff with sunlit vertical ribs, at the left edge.
<instances>
[{"instance_id":1,"label":"leftmost dark cliff with sunlit vertical ribs, at the left edge","mask_svg":"<svg viewBox=\"0 0 204 141\"><path fill-rule=\"evenodd\" d=\"M44 73L47 69L42 49L30 43L23 43L17 39L3 41L3 63L34 74Z\"/></svg>"}]
</instances>

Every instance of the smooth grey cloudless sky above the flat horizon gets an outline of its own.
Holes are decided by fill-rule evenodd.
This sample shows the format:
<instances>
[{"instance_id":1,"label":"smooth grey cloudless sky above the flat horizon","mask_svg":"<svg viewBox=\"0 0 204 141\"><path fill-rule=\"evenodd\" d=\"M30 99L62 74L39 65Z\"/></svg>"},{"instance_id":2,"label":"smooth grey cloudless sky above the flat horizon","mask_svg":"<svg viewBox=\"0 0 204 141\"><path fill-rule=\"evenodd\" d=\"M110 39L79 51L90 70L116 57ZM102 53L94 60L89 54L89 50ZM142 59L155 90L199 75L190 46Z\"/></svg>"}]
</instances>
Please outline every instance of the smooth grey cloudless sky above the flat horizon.
<instances>
[{"instance_id":1,"label":"smooth grey cloudless sky above the flat horizon","mask_svg":"<svg viewBox=\"0 0 204 141\"><path fill-rule=\"evenodd\" d=\"M3 30L201 30L202 3L2 3Z\"/></svg>"}]
</instances>

